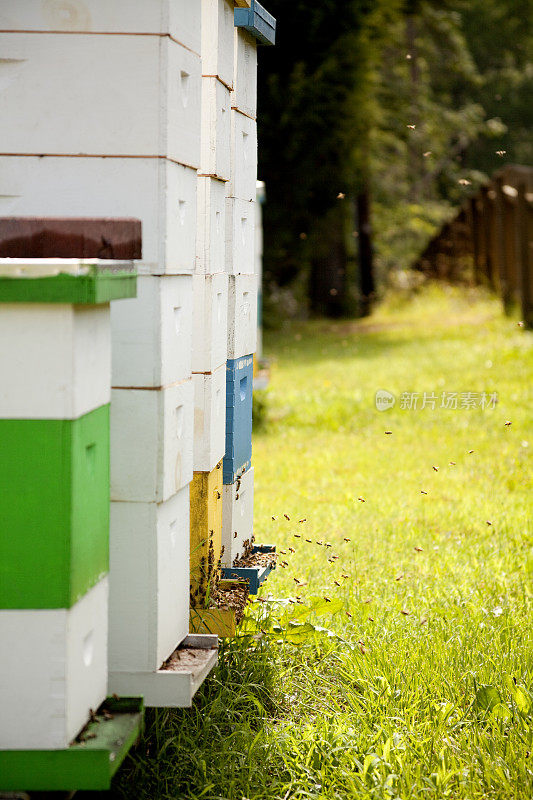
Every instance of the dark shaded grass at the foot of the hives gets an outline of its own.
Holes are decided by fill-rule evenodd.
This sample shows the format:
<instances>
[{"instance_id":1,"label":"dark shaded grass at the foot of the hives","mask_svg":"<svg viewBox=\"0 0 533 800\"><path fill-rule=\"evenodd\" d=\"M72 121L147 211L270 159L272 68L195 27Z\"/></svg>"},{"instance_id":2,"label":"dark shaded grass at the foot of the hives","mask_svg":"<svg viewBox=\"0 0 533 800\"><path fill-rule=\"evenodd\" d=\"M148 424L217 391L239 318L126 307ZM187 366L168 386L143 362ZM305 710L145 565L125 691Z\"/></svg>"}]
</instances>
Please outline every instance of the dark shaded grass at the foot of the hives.
<instances>
[{"instance_id":1,"label":"dark shaded grass at the foot of the hives","mask_svg":"<svg viewBox=\"0 0 533 800\"><path fill-rule=\"evenodd\" d=\"M280 708L274 654L268 643L223 642L218 667L190 709L147 709L144 735L110 792L79 800L128 798L242 800L267 797L283 763L268 747L265 725ZM272 796L272 795L270 795Z\"/></svg>"}]
</instances>

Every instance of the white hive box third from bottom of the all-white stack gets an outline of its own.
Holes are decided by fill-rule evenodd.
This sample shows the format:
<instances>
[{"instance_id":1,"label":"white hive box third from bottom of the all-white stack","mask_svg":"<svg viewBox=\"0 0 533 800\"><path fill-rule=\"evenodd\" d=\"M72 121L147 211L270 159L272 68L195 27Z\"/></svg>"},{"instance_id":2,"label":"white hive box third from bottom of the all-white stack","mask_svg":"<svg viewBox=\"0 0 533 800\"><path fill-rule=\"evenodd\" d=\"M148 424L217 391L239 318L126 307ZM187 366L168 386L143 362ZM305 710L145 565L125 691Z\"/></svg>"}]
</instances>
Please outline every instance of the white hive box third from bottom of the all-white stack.
<instances>
[{"instance_id":1,"label":"white hive box third from bottom of the all-white stack","mask_svg":"<svg viewBox=\"0 0 533 800\"><path fill-rule=\"evenodd\" d=\"M144 275L111 305L113 387L168 386L191 373L193 276Z\"/></svg>"}]
</instances>

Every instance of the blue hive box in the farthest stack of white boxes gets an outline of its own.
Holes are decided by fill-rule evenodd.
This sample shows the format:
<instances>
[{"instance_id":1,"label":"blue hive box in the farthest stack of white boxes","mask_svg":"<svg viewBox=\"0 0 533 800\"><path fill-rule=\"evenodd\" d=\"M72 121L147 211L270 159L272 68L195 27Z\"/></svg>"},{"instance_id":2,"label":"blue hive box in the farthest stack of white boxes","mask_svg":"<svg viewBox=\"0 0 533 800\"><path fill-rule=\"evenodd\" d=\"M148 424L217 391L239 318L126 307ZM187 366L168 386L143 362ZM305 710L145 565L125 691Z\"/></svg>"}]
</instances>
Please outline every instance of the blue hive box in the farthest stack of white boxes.
<instances>
[{"instance_id":1,"label":"blue hive box in the farthest stack of white boxes","mask_svg":"<svg viewBox=\"0 0 533 800\"><path fill-rule=\"evenodd\" d=\"M252 460L253 356L226 362L226 455L224 483L233 483Z\"/></svg>"}]
</instances>

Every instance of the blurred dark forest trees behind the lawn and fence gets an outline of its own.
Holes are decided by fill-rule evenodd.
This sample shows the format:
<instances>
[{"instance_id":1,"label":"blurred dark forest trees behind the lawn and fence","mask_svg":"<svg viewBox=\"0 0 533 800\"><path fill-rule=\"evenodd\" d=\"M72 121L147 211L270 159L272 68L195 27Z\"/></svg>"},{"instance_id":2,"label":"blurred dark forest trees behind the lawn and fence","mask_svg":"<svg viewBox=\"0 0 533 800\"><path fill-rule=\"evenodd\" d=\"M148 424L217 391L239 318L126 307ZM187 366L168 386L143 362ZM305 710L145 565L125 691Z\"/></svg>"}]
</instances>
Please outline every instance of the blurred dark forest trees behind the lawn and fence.
<instances>
[{"instance_id":1,"label":"blurred dark forest trees behind the lawn and fence","mask_svg":"<svg viewBox=\"0 0 533 800\"><path fill-rule=\"evenodd\" d=\"M269 0L264 321L363 316L463 200L533 164L531 0ZM373 262L369 274L365 264Z\"/></svg>"}]
</instances>

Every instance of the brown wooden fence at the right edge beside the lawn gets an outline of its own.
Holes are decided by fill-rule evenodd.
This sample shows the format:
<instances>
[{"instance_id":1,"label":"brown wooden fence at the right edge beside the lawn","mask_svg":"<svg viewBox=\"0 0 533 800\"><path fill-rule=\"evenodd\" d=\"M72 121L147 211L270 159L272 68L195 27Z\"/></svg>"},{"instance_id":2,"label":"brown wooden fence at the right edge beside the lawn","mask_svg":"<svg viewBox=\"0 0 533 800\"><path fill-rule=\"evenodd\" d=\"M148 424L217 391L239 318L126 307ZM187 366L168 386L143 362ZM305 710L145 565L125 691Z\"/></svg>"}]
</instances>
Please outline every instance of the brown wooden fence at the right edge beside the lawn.
<instances>
[{"instance_id":1,"label":"brown wooden fence at the right edge beside the lawn","mask_svg":"<svg viewBox=\"0 0 533 800\"><path fill-rule=\"evenodd\" d=\"M433 237L414 268L486 285L533 328L533 167L509 165Z\"/></svg>"}]
</instances>

